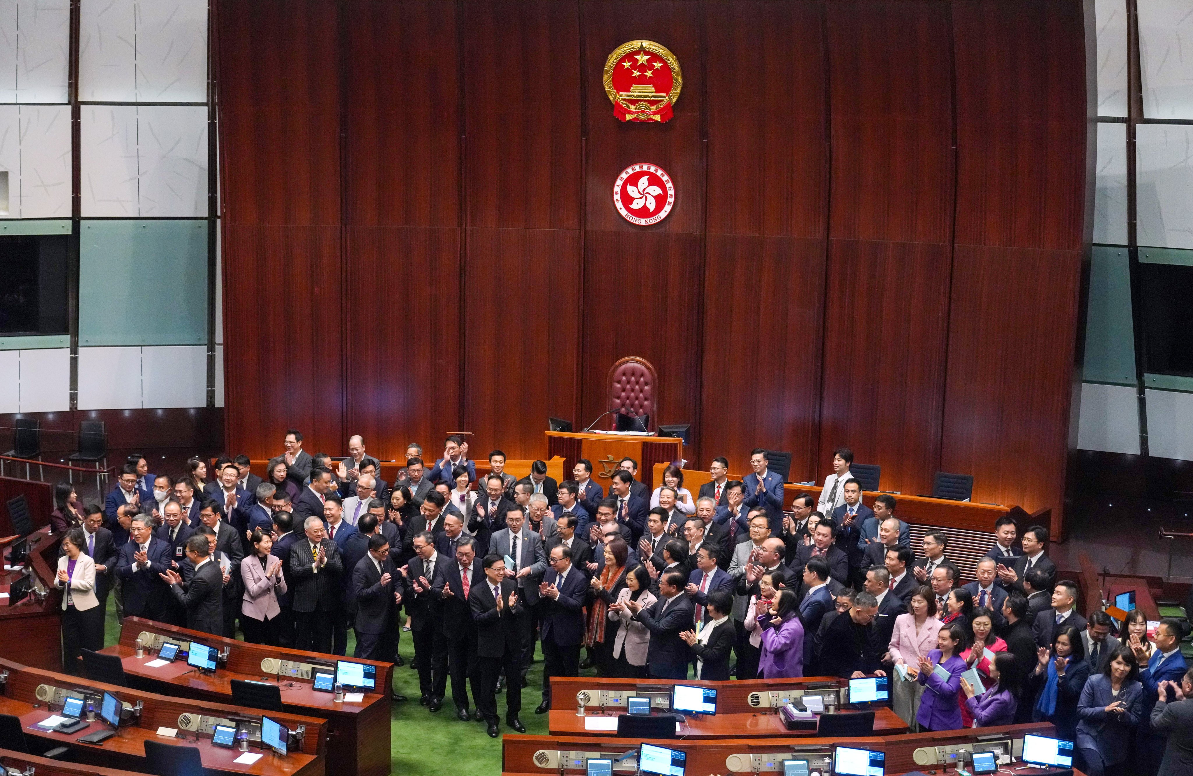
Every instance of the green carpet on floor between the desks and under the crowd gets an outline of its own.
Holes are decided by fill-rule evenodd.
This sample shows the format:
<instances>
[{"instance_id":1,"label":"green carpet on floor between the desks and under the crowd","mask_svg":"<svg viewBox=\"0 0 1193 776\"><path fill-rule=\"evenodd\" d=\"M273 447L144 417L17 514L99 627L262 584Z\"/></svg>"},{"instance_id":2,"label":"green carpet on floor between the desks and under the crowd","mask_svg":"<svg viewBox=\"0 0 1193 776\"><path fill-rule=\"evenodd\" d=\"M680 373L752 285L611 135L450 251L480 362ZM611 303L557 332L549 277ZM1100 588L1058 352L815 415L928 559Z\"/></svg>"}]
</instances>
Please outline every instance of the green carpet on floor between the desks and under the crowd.
<instances>
[{"instance_id":1,"label":"green carpet on floor between the desks and under the crowd","mask_svg":"<svg viewBox=\"0 0 1193 776\"><path fill-rule=\"evenodd\" d=\"M109 598L105 644L112 645L120 640L120 626L116 621L116 604ZM348 632L348 654L356 646L356 639ZM406 665L394 669L394 689L410 699L406 703L394 703L390 749L392 752L392 774L402 776L441 776L446 772L444 757L451 757L452 776L494 776L501 772L501 739L489 738L483 722L460 722L456 719L455 706L451 702L451 682L447 683L445 706L432 714L419 706L419 672L409 665L414 659L414 641L409 633L403 633L398 641L398 652ZM523 690L523 712L520 719L526 732L537 735L546 734L546 714L534 714L534 708L542 700L542 656L530 669L530 685ZM497 713L502 721L502 733L512 733L505 727L505 693L497 695ZM328 772L334 772L328 768Z\"/></svg>"}]
</instances>

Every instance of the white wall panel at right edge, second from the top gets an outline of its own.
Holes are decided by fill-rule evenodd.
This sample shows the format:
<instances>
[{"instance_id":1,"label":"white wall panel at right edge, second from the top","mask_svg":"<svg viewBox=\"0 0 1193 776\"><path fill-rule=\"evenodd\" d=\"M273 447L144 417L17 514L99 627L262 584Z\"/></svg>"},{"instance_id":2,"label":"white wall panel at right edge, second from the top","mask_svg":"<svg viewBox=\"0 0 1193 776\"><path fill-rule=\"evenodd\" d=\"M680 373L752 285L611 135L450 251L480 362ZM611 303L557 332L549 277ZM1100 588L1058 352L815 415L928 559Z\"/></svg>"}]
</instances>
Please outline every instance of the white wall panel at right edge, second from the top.
<instances>
[{"instance_id":1,"label":"white wall panel at right edge, second from the top","mask_svg":"<svg viewBox=\"0 0 1193 776\"><path fill-rule=\"evenodd\" d=\"M1138 243L1193 248L1193 125L1136 128Z\"/></svg>"}]
</instances>

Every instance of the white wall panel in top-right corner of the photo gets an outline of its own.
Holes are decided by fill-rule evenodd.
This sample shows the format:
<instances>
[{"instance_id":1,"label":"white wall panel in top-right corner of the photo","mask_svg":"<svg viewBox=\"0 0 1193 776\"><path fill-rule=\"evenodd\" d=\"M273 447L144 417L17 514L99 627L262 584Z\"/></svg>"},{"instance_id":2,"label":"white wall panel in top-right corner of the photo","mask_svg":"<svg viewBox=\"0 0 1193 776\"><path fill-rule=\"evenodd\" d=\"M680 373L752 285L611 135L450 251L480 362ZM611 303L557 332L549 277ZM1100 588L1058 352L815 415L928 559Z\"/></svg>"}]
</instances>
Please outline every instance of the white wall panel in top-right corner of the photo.
<instances>
[{"instance_id":1,"label":"white wall panel in top-right corner of the photo","mask_svg":"<svg viewBox=\"0 0 1193 776\"><path fill-rule=\"evenodd\" d=\"M1193 118L1193 5L1139 2L1139 69L1146 118Z\"/></svg>"}]
</instances>

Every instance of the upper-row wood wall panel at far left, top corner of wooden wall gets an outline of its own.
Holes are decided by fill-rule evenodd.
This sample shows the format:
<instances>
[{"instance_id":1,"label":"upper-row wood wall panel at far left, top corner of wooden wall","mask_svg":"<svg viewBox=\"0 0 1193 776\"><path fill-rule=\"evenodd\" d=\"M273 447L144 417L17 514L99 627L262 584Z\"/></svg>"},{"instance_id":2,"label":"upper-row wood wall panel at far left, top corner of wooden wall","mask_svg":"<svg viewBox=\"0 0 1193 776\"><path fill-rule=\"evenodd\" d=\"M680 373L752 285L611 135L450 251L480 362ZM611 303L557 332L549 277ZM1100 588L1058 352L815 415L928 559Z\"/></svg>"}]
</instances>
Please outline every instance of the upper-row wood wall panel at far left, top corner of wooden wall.
<instances>
[{"instance_id":1,"label":"upper-row wood wall panel at far left, top corner of wooden wall","mask_svg":"<svg viewBox=\"0 0 1193 776\"><path fill-rule=\"evenodd\" d=\"M215 18L224 224L339 224L336 2L221 0Z\"/></svg>"}]
</instances>

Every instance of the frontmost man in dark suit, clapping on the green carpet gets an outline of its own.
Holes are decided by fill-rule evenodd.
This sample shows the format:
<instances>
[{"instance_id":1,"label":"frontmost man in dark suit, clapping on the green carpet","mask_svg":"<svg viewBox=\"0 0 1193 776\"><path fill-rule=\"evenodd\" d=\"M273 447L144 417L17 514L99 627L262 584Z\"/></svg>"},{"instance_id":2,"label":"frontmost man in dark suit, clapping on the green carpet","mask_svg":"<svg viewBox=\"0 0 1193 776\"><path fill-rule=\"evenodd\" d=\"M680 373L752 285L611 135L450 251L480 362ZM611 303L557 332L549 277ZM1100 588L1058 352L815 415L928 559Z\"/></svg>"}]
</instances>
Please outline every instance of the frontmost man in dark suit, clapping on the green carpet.
<instances>
[{"instance_id":1,"label":"frontmost man in dark suit, clapping on the green carpet","mask_svg":"<svg viewBox=\"0 0 1193 776\"><path fill-rule=\"evenodd\" d=\"M506 561L499 554L486 555L484 581L472 586L468 595L472 621L476 623L476 662L481 673L481 696L477 702L489 737L497 737L497 677L505 671L511 678L506 687L506 724L519 733L526 727L518 719L521 712L521 684L513 677L521 670L523 632L526 617L524 602L518 595L517 581L507 577Z\"/></svg>"}]
</instances>

